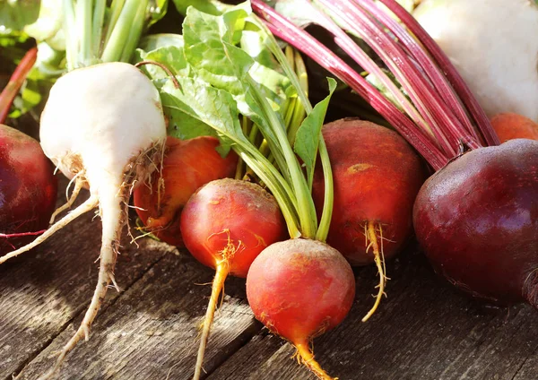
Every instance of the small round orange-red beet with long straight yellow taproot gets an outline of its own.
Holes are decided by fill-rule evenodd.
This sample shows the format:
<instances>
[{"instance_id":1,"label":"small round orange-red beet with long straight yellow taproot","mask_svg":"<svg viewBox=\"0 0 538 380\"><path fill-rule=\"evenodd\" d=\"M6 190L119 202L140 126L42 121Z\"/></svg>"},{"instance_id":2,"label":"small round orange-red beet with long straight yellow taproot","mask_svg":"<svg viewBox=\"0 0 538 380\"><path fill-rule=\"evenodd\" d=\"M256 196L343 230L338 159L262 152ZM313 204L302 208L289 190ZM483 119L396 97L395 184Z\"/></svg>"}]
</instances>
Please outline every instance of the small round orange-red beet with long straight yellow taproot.
<instances>
[{"instance_id":1,"label":"small round orange-red beet with long straight yellow taproot","mask_svg":"<svg viewBox=\"0 0 538 380\"><path fill-rule=\"evenodd\" d=\"M201 375L204 350L222 285L228 274L247 277L257 255L287 233L273 195L237 179L219 179L196 191L181 213L181 233L189 252L215 268L212 295L204 318L195 379Z\"/></svg>"}]
</instances>

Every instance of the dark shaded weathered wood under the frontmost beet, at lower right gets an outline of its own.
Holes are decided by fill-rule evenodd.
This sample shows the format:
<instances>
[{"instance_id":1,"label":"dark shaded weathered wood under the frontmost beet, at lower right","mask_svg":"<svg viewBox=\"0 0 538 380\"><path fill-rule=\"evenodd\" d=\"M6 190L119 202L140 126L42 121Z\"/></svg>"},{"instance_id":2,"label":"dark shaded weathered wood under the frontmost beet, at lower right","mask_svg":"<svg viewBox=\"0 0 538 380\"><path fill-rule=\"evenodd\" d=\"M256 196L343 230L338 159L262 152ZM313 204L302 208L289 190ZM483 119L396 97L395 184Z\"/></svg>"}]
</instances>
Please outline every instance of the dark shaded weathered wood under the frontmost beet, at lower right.
<instances>
[{"instance_id":1,"label":"dark shaded weathered wood under the frontmost beet, at lower right","mask_svg":"<svg viewBox=\"0 0 538 380\"><path fill-rule=\"evenodd\" d=\"M389 265L388 298L367 324L375 273L360 272L358 301L348 319L315 341L322 366L341 379L535 380L538 314L531 307L484 307L439 281L421 255ZM367 302L368 301L368 302ZM219 367L210 380L310 380L291 360L289 344L262 333ZM534 371L528 368L533 368Z\"/></svg>"}]
</instances>

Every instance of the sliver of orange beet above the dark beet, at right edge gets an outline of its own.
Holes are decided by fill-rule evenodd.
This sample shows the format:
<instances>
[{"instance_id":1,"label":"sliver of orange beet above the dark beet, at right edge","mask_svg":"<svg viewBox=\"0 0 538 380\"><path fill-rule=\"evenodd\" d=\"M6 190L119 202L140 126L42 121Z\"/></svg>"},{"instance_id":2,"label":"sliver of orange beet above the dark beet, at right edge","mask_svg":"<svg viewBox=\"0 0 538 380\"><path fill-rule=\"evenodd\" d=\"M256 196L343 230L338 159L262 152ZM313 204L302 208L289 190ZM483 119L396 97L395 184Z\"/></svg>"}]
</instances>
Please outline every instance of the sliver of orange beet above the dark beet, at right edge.
<instances>
[{"instance_id":1,"label":"sliver of orange beet above the dark beet, at right edge","mask_svg":"<svg viewBox=\"0 0 538 380\"><path fill-rule=\"evenodd\" d=\"M499 135L500 142L513 139L538 140L538 124L528 117L507 112L492 117L491 125Z\"/></svg>"}]
</instances>

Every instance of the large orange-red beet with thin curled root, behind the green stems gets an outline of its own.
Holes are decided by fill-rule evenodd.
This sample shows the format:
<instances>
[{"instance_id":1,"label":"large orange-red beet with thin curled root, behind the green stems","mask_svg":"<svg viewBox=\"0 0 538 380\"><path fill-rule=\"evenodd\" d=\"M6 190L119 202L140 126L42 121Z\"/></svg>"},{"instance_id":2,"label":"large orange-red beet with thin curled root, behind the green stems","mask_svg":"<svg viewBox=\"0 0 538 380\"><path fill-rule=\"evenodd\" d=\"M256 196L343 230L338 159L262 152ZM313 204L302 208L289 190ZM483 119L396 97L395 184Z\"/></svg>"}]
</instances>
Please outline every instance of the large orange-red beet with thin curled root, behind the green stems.
<instances>
[{"instance_id":1,"label":"large orange-red beet with thin curled root, behind the green stems","mask_svg":"<svg viewBox=\"0 0 538 380\"><path fill-rule=\"evenodd\" d=\"M334 176L327 243L351 265L376 261L379 271L377 302L366 321L384 292L384 258L394 256L412 234L412 205L425 170L404 138L386 127L348 118L325 125L323 135ZM313 195L321 214L324 185L320 165Z\"/></svg>"}]
</instances>

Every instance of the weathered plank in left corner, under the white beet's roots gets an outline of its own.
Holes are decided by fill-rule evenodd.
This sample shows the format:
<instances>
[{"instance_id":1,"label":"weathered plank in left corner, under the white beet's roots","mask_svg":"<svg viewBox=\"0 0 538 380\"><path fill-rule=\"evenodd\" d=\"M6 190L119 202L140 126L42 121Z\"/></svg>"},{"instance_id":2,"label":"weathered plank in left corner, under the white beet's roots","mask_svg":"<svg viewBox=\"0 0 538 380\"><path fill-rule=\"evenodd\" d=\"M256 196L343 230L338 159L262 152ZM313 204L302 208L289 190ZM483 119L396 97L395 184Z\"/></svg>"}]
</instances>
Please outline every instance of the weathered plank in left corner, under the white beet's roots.
<instances>
[{"instance_id":1,"label":"weathered plank in left corner, under the white beet's roots","mask_svg":"<svg viewBox=\"0 0 538 380\"><path fill-rule=\"evenodd\" d=\"M81 201L87 196L83 192ZM100 251L100 220L93 216L82 216L32 252L0 265L0 379L11 379L89 304ZM128 288L172 251L147 239L140 249L126 244L117 262L119 286ZM108 291L103 310L118 296Z\"/></svg>"}]
</instances>

